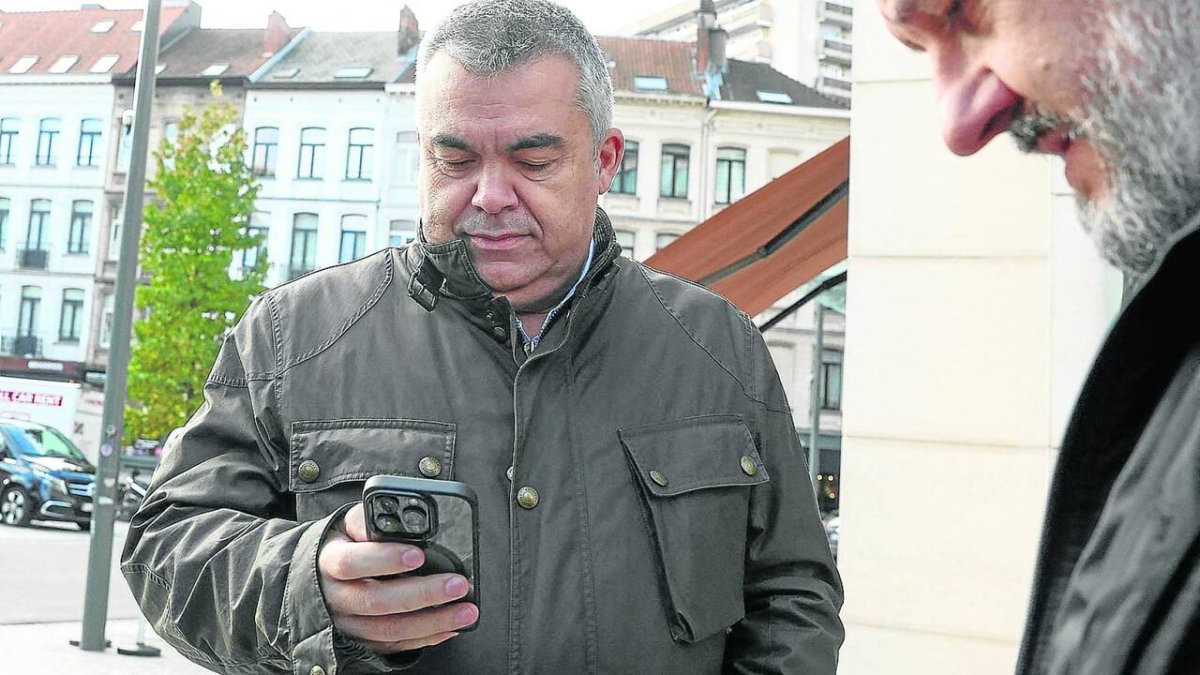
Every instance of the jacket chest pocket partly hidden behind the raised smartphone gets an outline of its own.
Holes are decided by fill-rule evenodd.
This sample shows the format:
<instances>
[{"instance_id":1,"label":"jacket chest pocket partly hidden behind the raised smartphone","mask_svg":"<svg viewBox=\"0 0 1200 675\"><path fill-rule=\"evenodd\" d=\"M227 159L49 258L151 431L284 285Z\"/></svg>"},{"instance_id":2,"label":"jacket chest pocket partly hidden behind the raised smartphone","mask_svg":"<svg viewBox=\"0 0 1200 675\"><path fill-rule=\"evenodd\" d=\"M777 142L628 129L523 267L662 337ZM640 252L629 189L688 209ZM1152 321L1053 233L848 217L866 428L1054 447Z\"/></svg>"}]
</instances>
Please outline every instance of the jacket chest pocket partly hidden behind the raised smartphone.
<instances>
[{"instance_id":1,"label":"jacket chest pocket partly hidden behind the raised smartphone","mask_svg":"<svg viewBox=\"0 0 1200 675\"><path fill-rule=\"evenodd\" d=\"M292 423L288 488L296 519L317 520L362 498L379 474L454 478L455 425L415 419L317 419Z\"/></svg>"}]
</instances>

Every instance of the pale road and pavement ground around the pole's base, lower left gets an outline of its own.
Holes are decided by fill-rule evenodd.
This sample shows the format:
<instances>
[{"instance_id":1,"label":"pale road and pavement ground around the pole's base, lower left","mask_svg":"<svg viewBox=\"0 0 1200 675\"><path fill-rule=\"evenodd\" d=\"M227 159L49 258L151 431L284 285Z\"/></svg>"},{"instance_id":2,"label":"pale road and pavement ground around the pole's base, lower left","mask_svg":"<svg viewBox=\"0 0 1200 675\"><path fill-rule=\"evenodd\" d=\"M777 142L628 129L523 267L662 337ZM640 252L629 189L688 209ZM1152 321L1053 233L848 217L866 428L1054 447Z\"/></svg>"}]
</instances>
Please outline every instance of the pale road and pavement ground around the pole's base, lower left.
<instances>
[{"instance_id":1,"label":"pale road and pavement ground around the pole's base, lower left","mask_svg":"<svg viewBox=\"0 0 1200 675\"><path fill-rule=\"evenodd\" d=\"M127 525L118 522L113 542L108 623L104 635L113 647L85 652L72 646L83 634L83 597L91 537L73 525L0 525L0 664L7 673L28 675L194 675L208 673L179 656L152 631L145 644L160 657L122 656L118 647L136 649L138 617L128 586L116 568Z\"/></svg>"}]
</instances>

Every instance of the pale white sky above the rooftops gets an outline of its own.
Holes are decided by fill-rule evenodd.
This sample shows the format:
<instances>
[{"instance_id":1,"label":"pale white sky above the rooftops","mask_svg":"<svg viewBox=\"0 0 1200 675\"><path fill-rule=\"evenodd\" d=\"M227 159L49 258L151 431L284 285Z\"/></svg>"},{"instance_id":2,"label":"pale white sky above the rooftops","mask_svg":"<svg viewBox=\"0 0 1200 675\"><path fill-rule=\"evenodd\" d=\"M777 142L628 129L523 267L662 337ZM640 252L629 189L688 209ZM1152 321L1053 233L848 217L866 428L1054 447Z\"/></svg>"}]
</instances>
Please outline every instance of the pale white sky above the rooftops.
<instances>
[{"instance_id":1,"label":"pale white sky above the rooftops","mask_svg":"<svg viewBox=\"0 0 1200 675\"><path fill-rule=\"evenodd\" d=\"M144 8L145 0L92 0L110 10ZM638 18L700 0L559 0L598 35L619 35ZM0 0L0 10L78 10L83 0ZM404 0L198 0L204 28L265 28L272 10L290 25L313 30L386 30L398 25ZM462 0L408 0L422 29L437 24Z\"/></svg>"}]
</instances>

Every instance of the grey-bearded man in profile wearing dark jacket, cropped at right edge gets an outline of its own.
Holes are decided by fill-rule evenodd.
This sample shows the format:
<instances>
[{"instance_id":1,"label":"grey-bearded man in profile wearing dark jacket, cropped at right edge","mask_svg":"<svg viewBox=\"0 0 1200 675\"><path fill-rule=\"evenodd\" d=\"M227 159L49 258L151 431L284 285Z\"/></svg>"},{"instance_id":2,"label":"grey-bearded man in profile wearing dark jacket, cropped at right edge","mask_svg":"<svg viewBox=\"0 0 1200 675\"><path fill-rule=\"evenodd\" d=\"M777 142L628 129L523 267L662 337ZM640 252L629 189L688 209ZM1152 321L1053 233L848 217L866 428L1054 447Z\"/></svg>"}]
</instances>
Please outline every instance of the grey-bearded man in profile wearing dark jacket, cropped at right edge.
<instances>
[{"instance_id":1,"label":"grey-bearded man in profile wearing dark jacket, cropped at right edge","mask_svg":"<svg viewBox=\"0 0 1200 675\"><path fill-rule=\"evenodd\" d=\"M1133 293L1050 488L1022 674L1200 671L1200 1L878 0L943 135L1063 157Z\"/></svg>"}]
</instances>

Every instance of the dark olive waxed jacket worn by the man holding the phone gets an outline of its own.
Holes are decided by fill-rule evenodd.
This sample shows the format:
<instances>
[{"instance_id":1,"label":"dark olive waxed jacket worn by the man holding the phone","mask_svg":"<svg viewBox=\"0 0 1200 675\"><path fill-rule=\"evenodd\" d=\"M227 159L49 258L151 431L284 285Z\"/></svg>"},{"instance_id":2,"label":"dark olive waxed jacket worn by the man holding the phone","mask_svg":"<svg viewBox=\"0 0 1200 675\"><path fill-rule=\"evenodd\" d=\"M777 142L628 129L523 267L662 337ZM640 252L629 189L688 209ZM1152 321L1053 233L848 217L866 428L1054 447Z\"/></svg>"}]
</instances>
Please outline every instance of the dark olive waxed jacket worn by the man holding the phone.
<instances>
[{"instance_id":1,"label":"dark olive waxed jacket worn by the man holding the phone","mask_svg":"<svg viewBox=\"0 0 1200 675\"><path fill-rule=\"evenodd\" d=\"M599 210L595 243L530 354L462 241L258 298L130 530L158 634L239 674L833 674L840 579L762 336ZM318 546L366 478L434 465L479 495L479 626L385 661L335 631Z\"/></svg>"}]
</instances>

